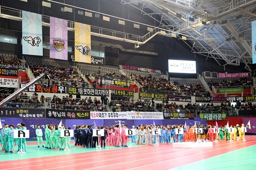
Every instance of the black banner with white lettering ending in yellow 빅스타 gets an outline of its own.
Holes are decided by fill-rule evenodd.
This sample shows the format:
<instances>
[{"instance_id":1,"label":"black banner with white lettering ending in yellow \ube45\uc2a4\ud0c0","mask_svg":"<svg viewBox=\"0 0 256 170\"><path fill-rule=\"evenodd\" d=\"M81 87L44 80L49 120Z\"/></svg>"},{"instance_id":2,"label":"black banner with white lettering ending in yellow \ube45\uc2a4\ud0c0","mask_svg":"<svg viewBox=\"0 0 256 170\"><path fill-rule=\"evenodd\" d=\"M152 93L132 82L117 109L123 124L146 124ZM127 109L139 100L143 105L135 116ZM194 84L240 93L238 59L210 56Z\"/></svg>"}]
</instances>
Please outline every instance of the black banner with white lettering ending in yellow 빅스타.
<instances>
[{"instance_id":1,"label":"black banner with white lettering ending in yellow \ube45\uc2a4\ud0c0","mask_svg":"<svg viewBox=\"0 0 256 170\"><path fill-rule=\"evenodd\" d=\"M90 111L46 109L46 118L65 119L65 120L67 120L67 119L90 119Z\"/></svg>"}]
</instances>

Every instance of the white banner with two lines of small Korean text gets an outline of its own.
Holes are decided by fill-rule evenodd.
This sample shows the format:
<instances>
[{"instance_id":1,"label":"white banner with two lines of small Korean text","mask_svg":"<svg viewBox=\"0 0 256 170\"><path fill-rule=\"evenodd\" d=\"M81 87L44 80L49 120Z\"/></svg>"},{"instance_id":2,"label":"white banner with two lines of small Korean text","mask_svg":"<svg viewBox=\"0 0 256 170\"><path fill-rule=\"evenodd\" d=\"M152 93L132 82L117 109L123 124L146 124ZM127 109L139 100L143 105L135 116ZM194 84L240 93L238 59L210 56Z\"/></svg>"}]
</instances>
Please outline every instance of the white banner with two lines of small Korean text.
<instances>
[{"instance_id":1,"label":"white banner with two lines of small Korean text","mask_svg":"<svg viewBox=\"0 0 256 170\"><path fill-rule=\"evenodd\" d=\"M163 120L162 112L126 112L127 119L152 119L152 120Z\"/></svg>"}]
</instances>

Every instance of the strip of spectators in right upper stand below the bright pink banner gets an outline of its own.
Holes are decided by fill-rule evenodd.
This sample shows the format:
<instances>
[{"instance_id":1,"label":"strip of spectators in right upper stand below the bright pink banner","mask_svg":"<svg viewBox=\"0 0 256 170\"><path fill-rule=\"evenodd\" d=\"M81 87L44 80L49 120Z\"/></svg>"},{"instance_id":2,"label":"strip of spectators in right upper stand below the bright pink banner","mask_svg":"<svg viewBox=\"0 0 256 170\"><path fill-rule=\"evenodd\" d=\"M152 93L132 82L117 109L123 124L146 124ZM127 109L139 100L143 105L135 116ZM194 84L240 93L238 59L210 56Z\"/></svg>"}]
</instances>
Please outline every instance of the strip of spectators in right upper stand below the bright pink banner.
<instances>
[{"instance_id":1,"label":"strip of spectators in right upper stand below the bright pink banner","mask_svg":"<svg viewBox=\"0 0 256 170\"><path fill-rule=\"evenodd\" d=\"M253 85L253 80L248 77L242 77L237 79L226 79L221 82L210 80L208 83L209 88L212 90L212 86L218 87L218 88L234 88L236 87L243 87L246 88L246 86ZM250 88L250 87L249 87Z\"/></svg>"}]
</instances>

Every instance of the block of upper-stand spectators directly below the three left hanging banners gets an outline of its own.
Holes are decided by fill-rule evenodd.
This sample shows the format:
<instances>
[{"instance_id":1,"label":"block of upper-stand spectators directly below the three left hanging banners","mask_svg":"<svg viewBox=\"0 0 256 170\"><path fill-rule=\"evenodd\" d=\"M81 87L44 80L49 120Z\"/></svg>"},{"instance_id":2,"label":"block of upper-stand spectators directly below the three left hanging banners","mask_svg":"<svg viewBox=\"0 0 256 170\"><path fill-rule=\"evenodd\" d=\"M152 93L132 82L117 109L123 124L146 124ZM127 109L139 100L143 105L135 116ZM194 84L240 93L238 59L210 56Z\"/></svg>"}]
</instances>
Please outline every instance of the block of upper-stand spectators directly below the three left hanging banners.
<instances>
[{"instance_id":1,"label":"block of upper-stand spectators directly below the three left hanging banners","mask_svg":"<svg viewBox=\"0 0 256 170\"><path fill-rule=\"evenodd\" d=\"M69 86L69 87L83 87L88 88L88 82L85 82L77 72L76 68L67 68L67 67L55 67L49 65L39 65L32 64L30 69L35 77L39 76L42 73L47 72L48 76L51 78L52 85L58 86ZM42 79L42 82L45 82L46 79Z\"/></svg>"}]
</instances>

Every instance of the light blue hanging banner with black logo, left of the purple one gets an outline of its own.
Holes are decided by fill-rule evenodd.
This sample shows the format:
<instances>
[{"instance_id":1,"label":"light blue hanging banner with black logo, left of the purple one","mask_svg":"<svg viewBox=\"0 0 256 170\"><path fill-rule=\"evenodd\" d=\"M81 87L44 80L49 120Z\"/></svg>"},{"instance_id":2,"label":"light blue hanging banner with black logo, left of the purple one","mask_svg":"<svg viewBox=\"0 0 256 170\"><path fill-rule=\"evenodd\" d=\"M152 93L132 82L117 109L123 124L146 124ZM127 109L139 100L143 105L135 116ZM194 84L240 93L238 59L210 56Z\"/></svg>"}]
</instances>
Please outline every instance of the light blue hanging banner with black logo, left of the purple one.
<instances>
[{"instance_id":1,"label":"light blue hanging banner with black logo, left of the purple one","mask_svg":"<svg viewBox=\"0 0 256 170\"><path fill-rule=\"evenodd\" d=\"M42 15L22 11L22 54L43 56Z\"/></svg>"}]
</instances>

